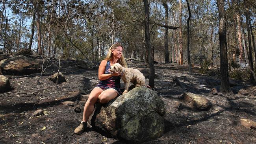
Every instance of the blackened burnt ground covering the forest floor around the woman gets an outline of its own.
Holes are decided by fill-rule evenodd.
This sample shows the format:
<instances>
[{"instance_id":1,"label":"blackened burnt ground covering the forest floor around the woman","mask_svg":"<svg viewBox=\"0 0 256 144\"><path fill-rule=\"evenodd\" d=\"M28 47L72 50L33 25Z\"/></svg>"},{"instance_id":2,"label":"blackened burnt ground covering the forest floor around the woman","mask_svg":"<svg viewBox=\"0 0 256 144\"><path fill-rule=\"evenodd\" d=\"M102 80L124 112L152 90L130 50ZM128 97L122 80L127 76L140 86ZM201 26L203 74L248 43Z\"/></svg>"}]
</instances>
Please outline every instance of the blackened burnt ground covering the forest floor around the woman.
<instances>
[{"instance_id":1,"label":"blackened burnt ground covering the forest floor around the woman","mask_svg":"<svg viewBox=\"0 0 256 144\"><path fill-rule=\"evenodd\" d=\"M144 63L128 62L129 67L147 68ZM187 66L176 64L157 64L155 91L163 100L165 115L165 134L144 144L255 144L256 130L241 126L239 119L256 121L256 96L240 94L213 95L212 86L205 82L210 76L198 73L188 75ZM40 79L39 75L8 76L15 92L30 94L5 94L0 96L0 143L1 144L122 144L111 137L105 137L93 128L82 135L75 135L74 129L82 120L82 112L76 113L74 107L61 104L74 101L83 105L90 90L98 83L97 68L84 70L76 67L74 61L62 61L61 72L67 82L58 85L48 79L57 72L57 66L48 68ZM184 90L176 83L175 77L195 94L205 96L213 106L209 111L192 111L189 107L177 108L175 101ZM236 81L245 85L245 81ZM148 83L148 78L146 79ZM81 92L81 94L77 94ZM236 92L235 92L236 93ZM44 114L33 117L37 109ZM42 130L45 127L45 130Z\"/></svg>"}]
</instances>

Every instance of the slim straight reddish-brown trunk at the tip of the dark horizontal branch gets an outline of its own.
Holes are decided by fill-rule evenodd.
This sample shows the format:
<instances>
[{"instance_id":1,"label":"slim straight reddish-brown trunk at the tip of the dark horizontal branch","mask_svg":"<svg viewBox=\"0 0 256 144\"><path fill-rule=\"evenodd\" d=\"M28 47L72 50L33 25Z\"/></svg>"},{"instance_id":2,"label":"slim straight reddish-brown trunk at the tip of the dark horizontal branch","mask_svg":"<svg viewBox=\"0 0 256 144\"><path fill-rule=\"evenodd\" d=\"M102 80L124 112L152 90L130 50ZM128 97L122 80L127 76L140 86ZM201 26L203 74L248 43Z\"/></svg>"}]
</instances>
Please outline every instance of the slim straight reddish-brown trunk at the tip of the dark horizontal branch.
<instances>
[{"instance_id":1,"label":"slim straight reddish-brown trunk at the tip of the dark horizontal branch","mask_svg":"<svg viewBox=\"0 0 256 144\"><path fill-rule=\"evenodd\" d=\"M182 1L179 0L180 4L180 17L179 17L179 43L180 43L180 54L179 54L179 65L183 65L183 50L182 50Z\"/></svg>"}]
</instances>

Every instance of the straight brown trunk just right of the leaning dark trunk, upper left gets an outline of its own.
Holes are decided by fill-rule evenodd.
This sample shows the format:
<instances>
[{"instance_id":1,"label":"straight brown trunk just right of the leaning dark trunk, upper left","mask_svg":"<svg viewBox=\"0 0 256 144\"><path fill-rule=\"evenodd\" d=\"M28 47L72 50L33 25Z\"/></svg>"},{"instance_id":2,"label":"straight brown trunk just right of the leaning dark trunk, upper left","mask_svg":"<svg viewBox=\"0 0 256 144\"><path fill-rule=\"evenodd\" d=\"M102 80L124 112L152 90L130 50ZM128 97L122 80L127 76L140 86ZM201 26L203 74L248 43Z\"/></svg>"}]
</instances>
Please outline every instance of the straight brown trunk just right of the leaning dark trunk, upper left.
<instances>
[{"instance_id":1,"label":"straight brown trunk just right of the leaning dark trunk, upper left","mask_svg":"<svg viewBox=\"0 0 256 144\"><path fill-rule=\"evenodd\" d=\"M42 55L40 9L41 9L41 6L39 3L37 3L37 50L38 50L38 54Z\"/></svg>"}]
</instances>

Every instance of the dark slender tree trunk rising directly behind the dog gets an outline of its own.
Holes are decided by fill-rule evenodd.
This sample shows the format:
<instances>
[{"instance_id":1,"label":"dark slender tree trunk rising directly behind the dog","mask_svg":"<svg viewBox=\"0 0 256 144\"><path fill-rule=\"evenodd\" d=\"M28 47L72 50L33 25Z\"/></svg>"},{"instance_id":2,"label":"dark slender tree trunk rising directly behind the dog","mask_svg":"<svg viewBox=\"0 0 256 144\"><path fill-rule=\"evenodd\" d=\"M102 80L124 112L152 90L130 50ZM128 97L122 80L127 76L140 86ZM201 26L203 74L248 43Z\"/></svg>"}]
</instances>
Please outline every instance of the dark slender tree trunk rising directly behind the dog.
<instances>
[{"instance_id":1,"label":"dark slender tree trunk rising directly behind the dog","mask_svg":"<svg viewBox=\"0 0 256 144\"><path fill-rule=\"evenodd\" d=\"M150 33L149 33L149 4L148 0L144 1L144 8L145 8L145 45L148 49L148 62L149 62L149 83L148 85L152 88L154 88L154 74L155 74L155 68L154 68L154 50L150 46Z\"/></svg>"}]
</instances>

